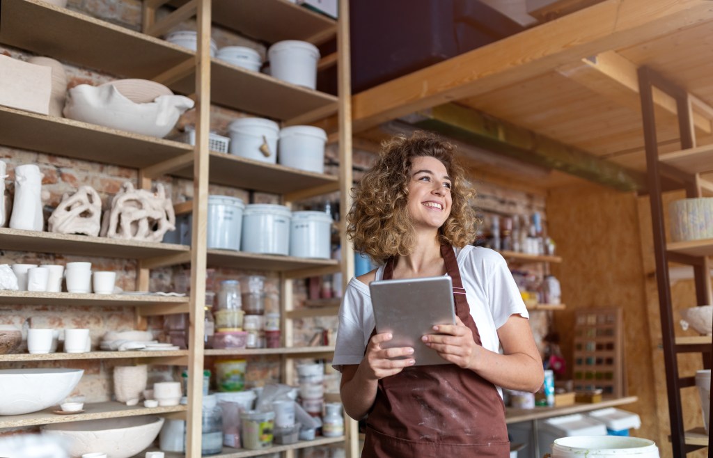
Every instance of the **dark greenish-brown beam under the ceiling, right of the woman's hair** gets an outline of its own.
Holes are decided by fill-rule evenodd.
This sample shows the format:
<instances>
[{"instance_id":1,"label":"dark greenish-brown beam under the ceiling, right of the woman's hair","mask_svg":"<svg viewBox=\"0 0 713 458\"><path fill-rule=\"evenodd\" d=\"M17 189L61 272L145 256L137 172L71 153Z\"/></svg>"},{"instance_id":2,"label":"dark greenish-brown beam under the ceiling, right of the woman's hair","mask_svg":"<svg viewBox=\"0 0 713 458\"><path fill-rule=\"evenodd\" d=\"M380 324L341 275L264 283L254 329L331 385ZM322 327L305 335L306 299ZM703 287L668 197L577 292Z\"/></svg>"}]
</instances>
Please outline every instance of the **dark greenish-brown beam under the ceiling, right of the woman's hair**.
<instances>
[{"instance_id":1,"label":"dark greenish-brown beam under the ceiling, right of the woman's hair","mask_svg":"<svg viewBox=\"0 0 713 458\"><path fill-rule=\"evenodd\" d=\"M472 108L448 103L421 110L402 120L468 145L540 167L561 170L620 191L641 192L646 189L646 177L642 172L602 160L590 152Z\"/></svg>"}]
</instances>

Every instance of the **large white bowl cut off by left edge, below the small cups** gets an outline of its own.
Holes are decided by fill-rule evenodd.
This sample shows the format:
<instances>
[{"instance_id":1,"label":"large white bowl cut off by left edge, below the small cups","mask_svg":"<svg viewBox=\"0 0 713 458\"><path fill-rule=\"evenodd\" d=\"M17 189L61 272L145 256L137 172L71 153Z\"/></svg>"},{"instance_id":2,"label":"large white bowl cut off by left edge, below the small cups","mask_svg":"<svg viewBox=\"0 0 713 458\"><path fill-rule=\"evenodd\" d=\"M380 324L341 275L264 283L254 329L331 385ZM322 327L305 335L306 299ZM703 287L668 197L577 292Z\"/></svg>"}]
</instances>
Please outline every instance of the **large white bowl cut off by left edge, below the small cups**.
<instances>
[{"instance_id":1,"label":"large white bowl cut off by left edge, below the small cups","mask_svg":"<svg viewBox=\"0 0 713 458\"><path fill-rule=\"evenodd\" d=\"M0 415L21 415L58 405L83 373L81 369L0 369Z\"/></svg>"}]
</instances>

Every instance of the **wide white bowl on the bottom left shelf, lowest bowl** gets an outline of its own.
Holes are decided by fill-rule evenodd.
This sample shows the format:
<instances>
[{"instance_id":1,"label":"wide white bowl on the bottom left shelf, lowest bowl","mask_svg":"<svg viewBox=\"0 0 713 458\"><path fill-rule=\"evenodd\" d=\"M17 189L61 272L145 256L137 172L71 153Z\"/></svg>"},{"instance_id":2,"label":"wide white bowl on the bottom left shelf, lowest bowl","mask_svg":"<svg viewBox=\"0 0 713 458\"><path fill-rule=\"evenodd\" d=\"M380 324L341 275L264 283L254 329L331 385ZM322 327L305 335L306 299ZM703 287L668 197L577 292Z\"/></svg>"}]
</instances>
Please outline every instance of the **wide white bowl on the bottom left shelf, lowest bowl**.
<instances>
[{"instance_id":1,"label":"wide white bowl on the bottom left shelf, lowest bowl","mask_svg":"<svg viewBox=\"0 0 713 458\"><path fill-rule=\"evenodd\" d=\"M42 429L44 434L69 439L72 458L91 452L106 453L108 458L129 458L146 449L156 439L162 426L163 418L143 416L57 423L45 425Z\"/></svg>"}]
</instances>

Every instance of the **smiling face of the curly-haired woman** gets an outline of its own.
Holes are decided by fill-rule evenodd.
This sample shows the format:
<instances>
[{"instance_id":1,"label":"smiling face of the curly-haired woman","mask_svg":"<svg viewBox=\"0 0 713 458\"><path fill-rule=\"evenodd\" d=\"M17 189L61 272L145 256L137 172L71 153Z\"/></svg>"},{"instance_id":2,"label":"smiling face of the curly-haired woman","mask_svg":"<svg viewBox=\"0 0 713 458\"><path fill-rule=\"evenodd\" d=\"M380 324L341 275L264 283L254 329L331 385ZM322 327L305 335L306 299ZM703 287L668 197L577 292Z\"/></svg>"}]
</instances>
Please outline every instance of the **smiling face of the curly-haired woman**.
<instances>
[{"instance_id":1,"label":"smiling face of the curly-haired woman","mask_svg":"<svg viewBox=\"0 0 713 458\"><path fill-rule=\"evenodd\" d=\"M416 229L438 229L451 214L451 178L443 162L431 156L411 160L408 209Z\"/></svg>"}]
</instances>

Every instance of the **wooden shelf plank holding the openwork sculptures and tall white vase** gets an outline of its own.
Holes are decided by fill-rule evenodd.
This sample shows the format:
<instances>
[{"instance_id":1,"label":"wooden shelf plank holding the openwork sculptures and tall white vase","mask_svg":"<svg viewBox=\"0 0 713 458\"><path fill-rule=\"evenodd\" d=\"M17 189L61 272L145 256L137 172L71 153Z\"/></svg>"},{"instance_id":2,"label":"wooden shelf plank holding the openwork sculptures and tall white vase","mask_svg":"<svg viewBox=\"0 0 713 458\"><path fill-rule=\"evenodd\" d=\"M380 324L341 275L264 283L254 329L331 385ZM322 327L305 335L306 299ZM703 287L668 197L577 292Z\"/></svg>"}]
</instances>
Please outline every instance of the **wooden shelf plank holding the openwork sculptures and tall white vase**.
<instances>
[{"instance_id":1,"label":"wooden shelf plank holding the openwork sculptures and tall white vase","mask_svg":"<svg viewBox=\"0 0 713 458\"><path fill-rule=\"evenodd\" d=\"M123 259L150 259L190 251L188 246L177 244L24 231L6 227L0 227L0 249Z\"/></svg>"}]
</instances>

